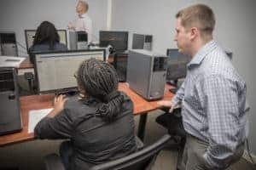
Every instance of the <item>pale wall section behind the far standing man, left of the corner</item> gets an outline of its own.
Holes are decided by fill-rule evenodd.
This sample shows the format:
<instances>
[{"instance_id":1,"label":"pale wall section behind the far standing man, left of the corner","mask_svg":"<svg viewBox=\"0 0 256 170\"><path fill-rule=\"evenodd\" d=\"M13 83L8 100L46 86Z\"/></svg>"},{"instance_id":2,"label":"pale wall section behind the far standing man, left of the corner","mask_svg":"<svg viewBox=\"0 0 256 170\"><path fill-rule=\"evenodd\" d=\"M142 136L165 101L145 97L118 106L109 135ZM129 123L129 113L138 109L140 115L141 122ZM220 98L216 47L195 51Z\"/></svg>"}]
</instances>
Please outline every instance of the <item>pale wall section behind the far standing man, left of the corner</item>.
<instances>
[{"instance_id":1,"label":"pale wall section behind the far standing man, left of the corner","mask_svg":"<svg viewBox=\"0 0 256 170\"><path fill-rule=\"evenodd\" d=\"M97 40L99 30L107 29L107 0L88 0L89 15L93 20ZM52 22L57 29L67 29L69 21L76 19L76 0L1 0L0 31L15 31L16 40L26 47L25 29L36 29L44 20ZM19 47L19 54L26 49Z\"/></svg>"}]
</instances>

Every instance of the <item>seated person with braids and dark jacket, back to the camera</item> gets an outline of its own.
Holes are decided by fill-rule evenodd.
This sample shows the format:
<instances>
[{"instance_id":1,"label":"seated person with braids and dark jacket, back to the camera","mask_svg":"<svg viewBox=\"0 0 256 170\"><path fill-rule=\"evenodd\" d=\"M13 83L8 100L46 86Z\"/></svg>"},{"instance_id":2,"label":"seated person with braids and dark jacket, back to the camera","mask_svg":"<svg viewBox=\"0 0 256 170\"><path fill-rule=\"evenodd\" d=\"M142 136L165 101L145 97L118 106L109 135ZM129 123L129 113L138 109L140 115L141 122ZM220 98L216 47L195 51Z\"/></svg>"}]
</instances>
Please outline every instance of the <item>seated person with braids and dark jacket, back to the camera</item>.
<instances>
[{"instance_id":1,"label":"seated person with braids and dark jacket, back to the camera","mask_svg":"<svg viewBox=\"0 0 256 170\"><path fill-rule=\"evenodd\" d=\"M87 169L135 152L133 103L118 91L113 66L88 59L75 77L79 97L56 97L53 111L35 127L36 137L69 139L60 147L66 169Z\"/></svg>"}]
</instances>

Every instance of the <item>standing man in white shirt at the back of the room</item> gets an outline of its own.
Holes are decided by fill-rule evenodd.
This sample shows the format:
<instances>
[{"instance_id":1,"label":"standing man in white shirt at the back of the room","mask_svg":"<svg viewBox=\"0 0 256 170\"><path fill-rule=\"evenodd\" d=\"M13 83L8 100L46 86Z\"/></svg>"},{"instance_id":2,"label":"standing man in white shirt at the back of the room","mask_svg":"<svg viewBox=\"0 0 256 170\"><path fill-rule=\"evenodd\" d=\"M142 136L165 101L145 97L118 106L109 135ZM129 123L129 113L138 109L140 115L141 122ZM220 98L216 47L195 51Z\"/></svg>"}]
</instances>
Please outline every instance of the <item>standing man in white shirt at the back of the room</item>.
<instances>
[{"instance_id":1,"label":"standing man in white shirt at the back of the room","mask_svg":"<svg viewBox=\"0 0 256 170\"><path fill-rule=\"evenodd\" d=\"M84 0L79 0L76 11L79 14L79 18L74 23L68 24L68 29L73 31L86 31L88 36L88 43L91 42L92 38L92 21L90 16L87 14L89 5Z\"/></svg>"}]
</instances>

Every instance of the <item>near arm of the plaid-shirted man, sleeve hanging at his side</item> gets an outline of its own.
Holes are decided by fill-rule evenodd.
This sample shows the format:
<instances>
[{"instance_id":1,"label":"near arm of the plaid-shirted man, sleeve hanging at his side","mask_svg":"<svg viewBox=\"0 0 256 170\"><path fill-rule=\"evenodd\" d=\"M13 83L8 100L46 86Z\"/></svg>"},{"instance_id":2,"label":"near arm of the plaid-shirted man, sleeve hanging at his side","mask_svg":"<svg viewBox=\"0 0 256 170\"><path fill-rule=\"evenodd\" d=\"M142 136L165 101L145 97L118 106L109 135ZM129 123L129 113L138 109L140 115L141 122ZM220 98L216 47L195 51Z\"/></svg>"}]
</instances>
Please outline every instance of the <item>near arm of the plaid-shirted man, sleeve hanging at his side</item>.
<instances>
[{"instance_id":1,"label":"near arm of the plaid-shirted man, sleeve hanging at his side","mask_svg":"<svg viewBox=\"0 0 256 170\"><path fill-rule=\"evenodd\" d=\"M235 81L221 75L207 77L203 83L203 108L207 112L209 133L209 147L204 158L210 167L226 167L242 142L238 89Z\"/></svg>"}]
</instances>

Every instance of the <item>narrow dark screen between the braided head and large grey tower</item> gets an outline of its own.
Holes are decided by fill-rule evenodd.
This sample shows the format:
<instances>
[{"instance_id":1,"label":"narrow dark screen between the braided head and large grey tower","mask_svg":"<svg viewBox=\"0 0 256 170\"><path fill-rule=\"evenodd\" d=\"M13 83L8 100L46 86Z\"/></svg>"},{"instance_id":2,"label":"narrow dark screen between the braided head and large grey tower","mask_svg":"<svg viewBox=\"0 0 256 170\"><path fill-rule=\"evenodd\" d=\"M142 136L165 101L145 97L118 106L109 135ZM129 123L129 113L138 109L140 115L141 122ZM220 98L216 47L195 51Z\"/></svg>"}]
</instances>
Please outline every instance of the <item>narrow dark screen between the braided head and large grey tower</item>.
<instances>
[{"instance_id":1,"label":"narrow dark screen between the braided head and large grey tower","mask_svg":"<svg viewBox=\"0 0 256 170\"><path fill-rule=\"evenodd\" d=\"M113 67L115 68L119 82L126 82L127 53L116 53L113 56Z\"/></svg>"}]
</instances>

